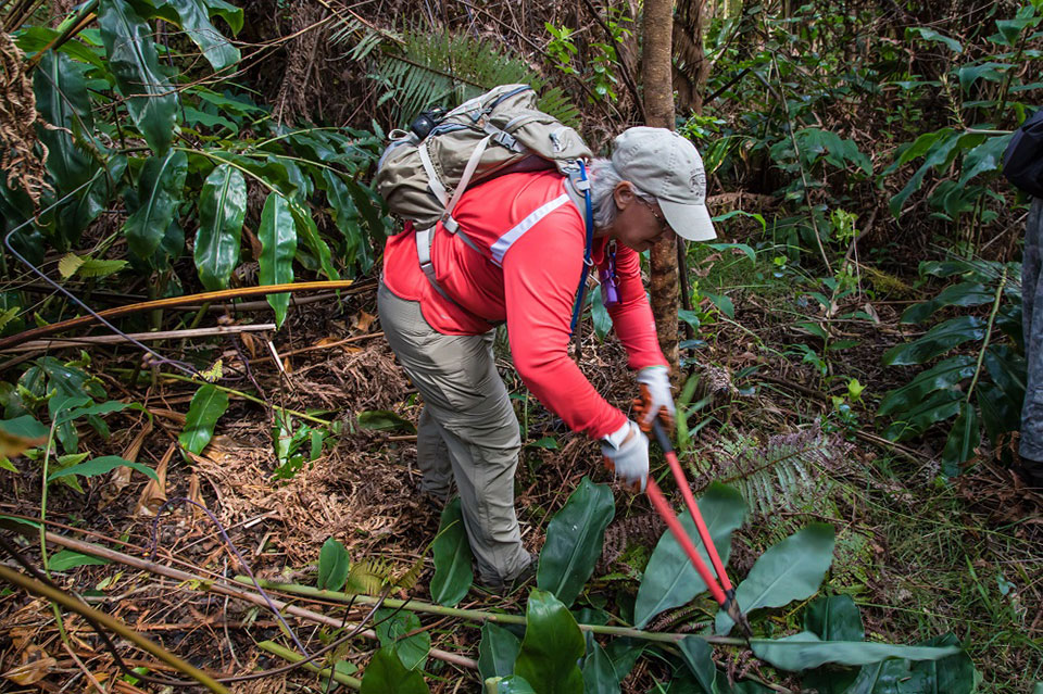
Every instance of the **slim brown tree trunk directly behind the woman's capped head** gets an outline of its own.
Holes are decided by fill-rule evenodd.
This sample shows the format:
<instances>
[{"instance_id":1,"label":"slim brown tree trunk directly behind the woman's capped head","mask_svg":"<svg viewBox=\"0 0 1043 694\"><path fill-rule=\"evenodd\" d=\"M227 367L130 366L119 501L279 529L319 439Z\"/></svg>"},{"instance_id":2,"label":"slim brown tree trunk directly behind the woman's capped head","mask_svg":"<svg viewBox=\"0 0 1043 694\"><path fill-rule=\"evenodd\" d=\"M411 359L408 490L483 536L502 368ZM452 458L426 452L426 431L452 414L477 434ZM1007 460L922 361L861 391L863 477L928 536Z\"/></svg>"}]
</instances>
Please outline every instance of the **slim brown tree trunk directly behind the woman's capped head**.
<instances>
[{"instance_id":1,"label":"slim brown tree trunk directly behind the woman's capped head","mask_svg":"<svg viewBox=\"0 0 1043 694\"><path fill-rule=\"evenodd\" d=\"M674 28L673 0L645 0L642 30L641 81L644 85L646 125L674 129L674 87L670 79L670 47ZM677 247L674 238L659 241L650 253L652 313L659 348L677 364Z\"/></svg>"}]
</instances>

